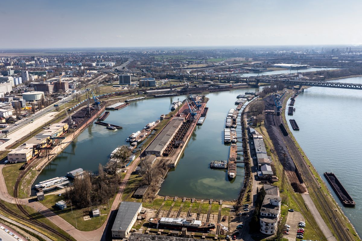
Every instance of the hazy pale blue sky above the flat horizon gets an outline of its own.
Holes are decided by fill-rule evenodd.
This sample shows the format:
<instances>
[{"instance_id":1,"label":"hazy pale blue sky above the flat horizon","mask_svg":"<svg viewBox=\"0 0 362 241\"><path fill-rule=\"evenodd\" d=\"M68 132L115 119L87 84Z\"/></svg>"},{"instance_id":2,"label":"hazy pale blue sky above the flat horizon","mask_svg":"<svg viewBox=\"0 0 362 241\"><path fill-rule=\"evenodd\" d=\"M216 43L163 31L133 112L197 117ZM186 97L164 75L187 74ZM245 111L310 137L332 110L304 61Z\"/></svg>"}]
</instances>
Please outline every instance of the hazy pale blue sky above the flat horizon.
<instances>
[{"instance_id":1,"label":"hazy pale blue sky above the flat horizon","mask_svg":"<svg viewBox=\"0 0 362 241\"><path fill-rule=\"evenodd\" d=\"M0 1L0 48L362 43L361 0Z\"/></svg>"}]
</instances>

